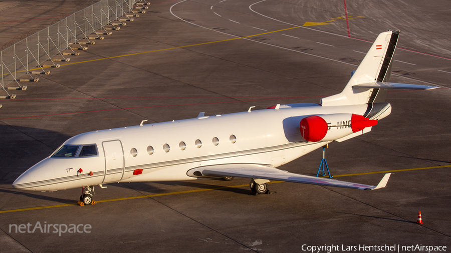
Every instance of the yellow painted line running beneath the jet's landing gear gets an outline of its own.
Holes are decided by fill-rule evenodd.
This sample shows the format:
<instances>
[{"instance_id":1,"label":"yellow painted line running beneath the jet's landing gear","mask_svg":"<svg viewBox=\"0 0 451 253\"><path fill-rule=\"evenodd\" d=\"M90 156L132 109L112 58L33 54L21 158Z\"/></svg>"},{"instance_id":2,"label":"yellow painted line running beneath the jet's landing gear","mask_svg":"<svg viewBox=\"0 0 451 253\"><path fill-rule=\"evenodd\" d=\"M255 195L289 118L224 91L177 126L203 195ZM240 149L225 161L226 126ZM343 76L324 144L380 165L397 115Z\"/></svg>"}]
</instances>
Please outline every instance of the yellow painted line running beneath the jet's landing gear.
<instances>
[{"instance_id":1,"label":"yellow painted line running beneath the jet's landing gear","mask_svg":"<svg viewBox=\"0 0 451 253\"><path fill-rule=\"evenodd\" d=\"M390 173L390 172L409 171L409 170L420 170L420 169L430 169L430 168L443 168L443 167L451 167L451 165L432 166L432 167L421 167L421 168L404 168L404 169L394 169L394 170L384 170L384 171L374 171L374 172L363 172L363 173L342 174L342 175L334 175L334 177L350 176L350 175L365 175L365 174ZM271 182L269 182L269 183L280 183L280 182L284 182L284 181L271 181ZM194 189L194 190L182 190L182 191L174 191L174 192L166 192L166 193L156 193L156 194L139 195L139 196L131 196L131 197L111 198L111 199L104 199L104 200L95 200L95 202L96 202L96 203L101 203L101 202L119 201L119 200L136 199L136 198L144 198L144 197L156 197L156 196L166 196L166 195L184 194L184 193L200 192L200 191L207 191L207 190L218 190L218 189L227 189L227 188L239 188L239 187L245 187L245 186L249 186L249 184L240 184L240 185L233 185L233 186L221 186L221 187L214 187L214 188ZM77 203L70 203L70 204L56 204L56 205L37 206L37 207L29 207L29 208L21 208L21 209L3 210L3 211L0 211L0 213L5 213L5 212L15 212L15 211L27 211L27 210L36 210L36 209L45 209L45 208L62 207L62 206L69 206L69 205L77 205Z\"/></svg>"}]
</instances>

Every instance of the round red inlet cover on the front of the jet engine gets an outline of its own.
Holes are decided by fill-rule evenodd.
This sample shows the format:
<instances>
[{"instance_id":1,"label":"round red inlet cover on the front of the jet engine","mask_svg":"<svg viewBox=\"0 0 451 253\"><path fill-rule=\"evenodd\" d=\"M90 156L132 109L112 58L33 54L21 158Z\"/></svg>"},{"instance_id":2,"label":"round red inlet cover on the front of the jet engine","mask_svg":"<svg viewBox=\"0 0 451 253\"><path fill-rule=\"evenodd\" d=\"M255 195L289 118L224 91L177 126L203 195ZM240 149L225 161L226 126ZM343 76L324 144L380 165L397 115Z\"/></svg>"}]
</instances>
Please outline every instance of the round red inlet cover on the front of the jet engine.
<instances>
[{"instance_id":1,"label":"round red inlet cover on the front of the jet engine","mask_svg":"<svg viewBox=\"0 0 451 253\"><path fill-rule=\"evenodd\" d=\"M320 116L312 115L301 120L299 129L307 141L320 141L326 136L327 122Z\"/></svg>"}]
</instances>

